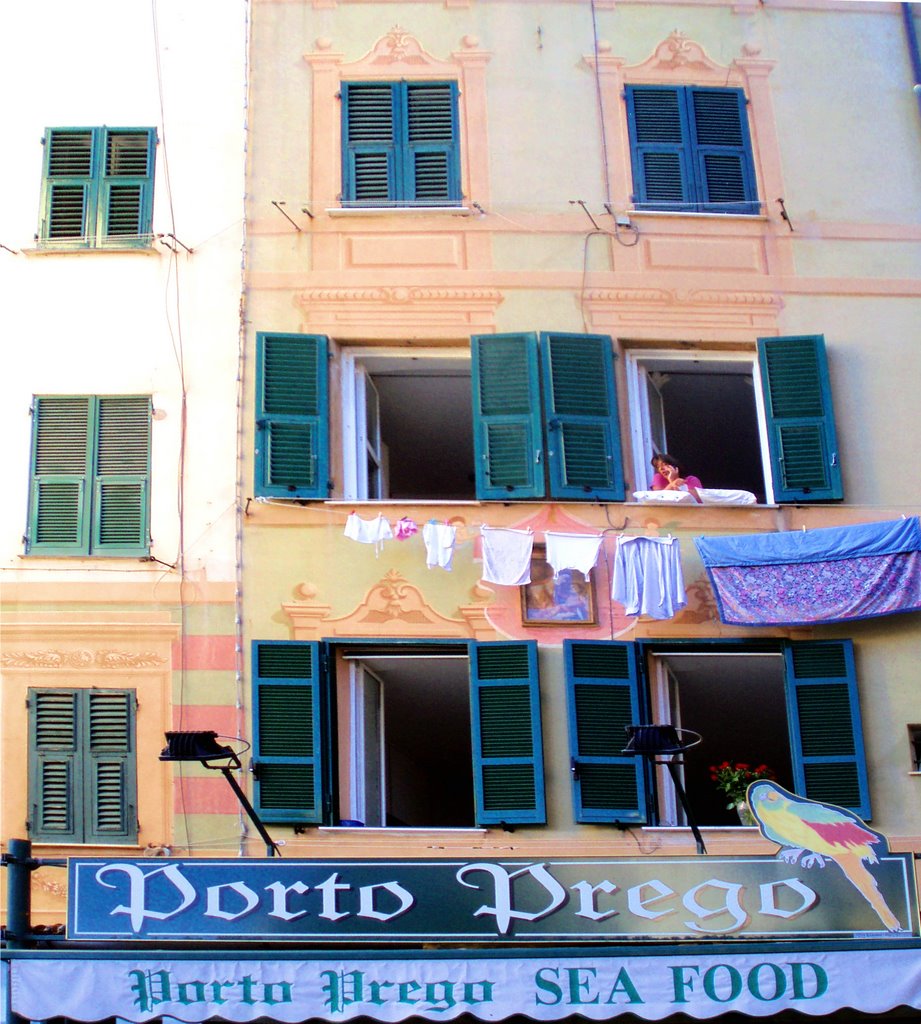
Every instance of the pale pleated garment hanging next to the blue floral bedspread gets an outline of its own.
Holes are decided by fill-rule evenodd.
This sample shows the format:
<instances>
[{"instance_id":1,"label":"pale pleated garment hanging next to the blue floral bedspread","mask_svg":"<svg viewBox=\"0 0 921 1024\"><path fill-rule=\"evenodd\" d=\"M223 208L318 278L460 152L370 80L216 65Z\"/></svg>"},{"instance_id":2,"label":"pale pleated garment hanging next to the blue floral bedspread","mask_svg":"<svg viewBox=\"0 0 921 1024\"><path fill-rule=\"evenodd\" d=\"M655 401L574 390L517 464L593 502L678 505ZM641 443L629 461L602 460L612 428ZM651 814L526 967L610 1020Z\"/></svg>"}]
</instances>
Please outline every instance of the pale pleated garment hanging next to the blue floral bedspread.
<instances>
[{"instance_id":1,"label":"pale pleated garment hanging next to the blue floral bedspread","mask_svg":"<svg viewBox=\"0 0 921 1024\"><path fill-rule=\"evenodd\" d=\"M620 537L611 596L628 615L672 618L687 604L681 552L673 537Z\"/></svg>"}]
</instances>

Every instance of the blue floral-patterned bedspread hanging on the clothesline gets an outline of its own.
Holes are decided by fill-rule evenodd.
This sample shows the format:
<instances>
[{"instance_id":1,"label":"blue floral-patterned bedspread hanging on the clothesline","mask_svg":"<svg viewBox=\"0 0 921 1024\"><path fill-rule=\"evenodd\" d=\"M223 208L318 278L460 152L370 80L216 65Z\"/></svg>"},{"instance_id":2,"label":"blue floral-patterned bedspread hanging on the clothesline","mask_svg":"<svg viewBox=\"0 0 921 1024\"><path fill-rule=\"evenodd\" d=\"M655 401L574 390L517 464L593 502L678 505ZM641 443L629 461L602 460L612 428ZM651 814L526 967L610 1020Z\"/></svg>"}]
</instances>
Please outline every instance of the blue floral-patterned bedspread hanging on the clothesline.
<instances>
[{"instance_id":1,"label":"blue floral-patterned bedspread hanging on the clothesline","mask_svg":"<svg viewBox=\"0 0 921 1024\"><path fill-rule=\"evenodd\" d=\"M699 537L731 626L810 626L921 609L921 523Z\"/></svg>"}]
</instances>

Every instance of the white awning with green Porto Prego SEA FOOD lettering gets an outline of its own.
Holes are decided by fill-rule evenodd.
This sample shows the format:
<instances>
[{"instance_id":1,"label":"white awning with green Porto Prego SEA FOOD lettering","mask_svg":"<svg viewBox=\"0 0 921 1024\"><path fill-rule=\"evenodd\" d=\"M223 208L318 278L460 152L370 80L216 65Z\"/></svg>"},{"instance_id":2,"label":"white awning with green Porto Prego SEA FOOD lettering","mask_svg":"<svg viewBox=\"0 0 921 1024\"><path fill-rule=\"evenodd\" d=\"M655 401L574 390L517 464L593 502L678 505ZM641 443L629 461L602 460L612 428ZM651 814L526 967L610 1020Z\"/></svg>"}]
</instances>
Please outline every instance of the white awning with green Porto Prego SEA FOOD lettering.
<instances>
[{"instance_id":1,"label":"white awning with green Porto Prego SEA FOOD lettering","mask_svg":"<svg viewBox=\"0 0 921 1024\"><path fill-rule=\"evenodd\" d=\"M619 1014L706 1020L729 1012L771 1017L846 1008L869 1014L903 1006L921 1010L917 944L804 950L696 943L650 946L641 953L618 947L498 956L414 950L355 958L201 951L184 958L132 957L120 951L117 957L24 954L4 967L11 975L12 1011L33 1021L403 1021L461 1015L558 1021Z\"/></svg>"}]
</instances>

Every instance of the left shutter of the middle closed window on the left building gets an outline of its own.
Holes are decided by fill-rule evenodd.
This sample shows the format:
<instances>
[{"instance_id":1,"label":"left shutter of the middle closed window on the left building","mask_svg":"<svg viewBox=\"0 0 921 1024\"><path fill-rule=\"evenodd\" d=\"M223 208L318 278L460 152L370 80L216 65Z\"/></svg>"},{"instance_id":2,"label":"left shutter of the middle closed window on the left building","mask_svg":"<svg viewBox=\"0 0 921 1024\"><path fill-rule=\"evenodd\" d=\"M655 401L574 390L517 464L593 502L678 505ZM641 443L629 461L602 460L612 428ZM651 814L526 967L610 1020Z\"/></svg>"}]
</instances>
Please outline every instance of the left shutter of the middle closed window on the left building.
<instances>
[{"instance_id":1,"label":"left shutter of the middle closed window on the left building","mask_svg":"<svg viewBox=\"0 0 921 1024\"><path fill-rule=\"evenodd\" d=\"M85 396L35 399L28 553L89 550L93 410Z\"/></svg>"}]
</instances>

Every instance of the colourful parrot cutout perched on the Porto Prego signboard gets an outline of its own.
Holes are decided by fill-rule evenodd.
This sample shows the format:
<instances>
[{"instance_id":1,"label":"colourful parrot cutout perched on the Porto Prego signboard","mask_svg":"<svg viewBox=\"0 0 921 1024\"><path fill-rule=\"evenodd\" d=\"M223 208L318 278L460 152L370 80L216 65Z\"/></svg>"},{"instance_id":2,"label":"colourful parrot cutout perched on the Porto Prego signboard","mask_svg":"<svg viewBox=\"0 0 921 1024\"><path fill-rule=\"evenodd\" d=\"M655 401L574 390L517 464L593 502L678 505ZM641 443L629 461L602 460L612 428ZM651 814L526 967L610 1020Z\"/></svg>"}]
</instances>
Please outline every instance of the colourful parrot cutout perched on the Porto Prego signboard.
<instances>
[{"instance_id":1,"label":"colourful parrot cutout perched on the Porto Prego signboard","mask_svg":"<svg viewBox=\"0 0 921 1024\"><path fill-rule=\"evenodd\" d=\"M803 867L825 867L826 860L833 860L886 928L903 930L866 866L878 863L874 846L881 844L880 850L888 852L885 836L873 831L851 811L797 797L777 782L752 782L746 798L761 835L784 848L778 854L782 860L793 864L805 854L800 860Z\"/></svg>"}]
</instances>

